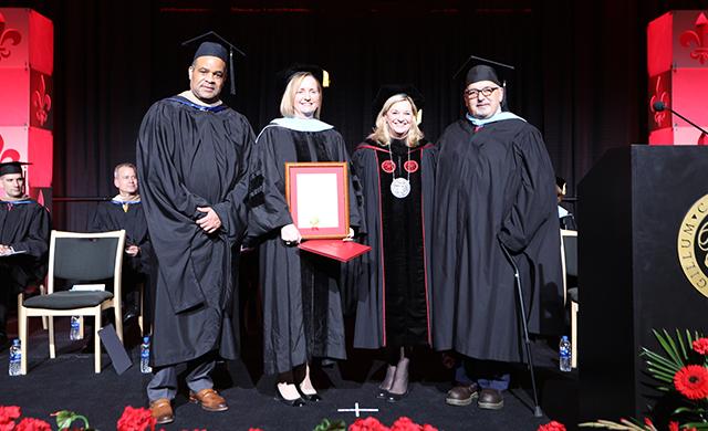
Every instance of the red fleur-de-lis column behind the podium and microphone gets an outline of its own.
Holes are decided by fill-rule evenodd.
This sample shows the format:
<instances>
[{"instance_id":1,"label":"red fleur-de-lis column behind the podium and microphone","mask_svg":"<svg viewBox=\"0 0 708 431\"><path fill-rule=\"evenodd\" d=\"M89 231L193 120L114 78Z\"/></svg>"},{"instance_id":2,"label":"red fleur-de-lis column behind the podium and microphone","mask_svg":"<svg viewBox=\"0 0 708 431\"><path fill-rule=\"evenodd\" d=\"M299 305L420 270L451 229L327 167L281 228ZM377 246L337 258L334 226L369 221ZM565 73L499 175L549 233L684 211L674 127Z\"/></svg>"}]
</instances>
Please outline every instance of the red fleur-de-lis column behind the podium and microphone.
<instances>
[{"instance_id":1,"label":"red fleur-de-lis column behind the podium and microphone","mask_svg":"<svg viewBox=\"0 0 708 431\"><path fill-rule=\"evenodd\" d=\"M649 144L708 145L708 136L668 109L708 129L708 10L677 10L647 27Z\"/></svg>"}]
</instances>

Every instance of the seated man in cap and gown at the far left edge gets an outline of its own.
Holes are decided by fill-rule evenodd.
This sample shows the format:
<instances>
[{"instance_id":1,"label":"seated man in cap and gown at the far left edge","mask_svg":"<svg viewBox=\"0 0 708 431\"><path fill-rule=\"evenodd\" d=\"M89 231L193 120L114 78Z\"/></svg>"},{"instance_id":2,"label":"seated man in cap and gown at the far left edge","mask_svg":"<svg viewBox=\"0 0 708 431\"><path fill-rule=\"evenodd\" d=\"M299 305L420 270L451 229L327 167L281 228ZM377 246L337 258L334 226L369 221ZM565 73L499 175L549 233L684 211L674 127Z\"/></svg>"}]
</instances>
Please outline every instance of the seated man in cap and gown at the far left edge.
<instances>
[{"instance_id":1,"label":"seated man in cap and gown at the far left edge","mask_svg":"<svg viewBox=\"0 0 708 431\"><path fill-rule=\"evenodd\" d=\"M18 161L0 164L0 349L8 343L7 320L17 294L46 275L51 222L44 207L24 195Z\"/></svg>"}]
</instances>

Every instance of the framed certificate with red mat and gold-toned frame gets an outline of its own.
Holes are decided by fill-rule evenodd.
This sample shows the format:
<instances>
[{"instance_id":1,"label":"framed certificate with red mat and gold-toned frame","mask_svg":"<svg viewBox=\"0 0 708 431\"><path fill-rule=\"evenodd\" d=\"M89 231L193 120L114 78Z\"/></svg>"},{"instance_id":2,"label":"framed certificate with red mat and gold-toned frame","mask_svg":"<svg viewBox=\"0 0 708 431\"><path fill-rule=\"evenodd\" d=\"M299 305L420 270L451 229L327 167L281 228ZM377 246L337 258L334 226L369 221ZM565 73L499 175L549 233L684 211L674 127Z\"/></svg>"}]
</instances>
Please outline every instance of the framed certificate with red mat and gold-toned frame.
<instances>
[{"instance_id":1,"label":"framed certificate with red mat and gold-toned frame","mask_svg":"<svg viewBox=\"0 0 708 431\"><path fill-rule=\"evenodd\" d=\"M285 164L285 199L303 239L348 234L348 190L345 161Z\"/></svg>"}]
</instances>

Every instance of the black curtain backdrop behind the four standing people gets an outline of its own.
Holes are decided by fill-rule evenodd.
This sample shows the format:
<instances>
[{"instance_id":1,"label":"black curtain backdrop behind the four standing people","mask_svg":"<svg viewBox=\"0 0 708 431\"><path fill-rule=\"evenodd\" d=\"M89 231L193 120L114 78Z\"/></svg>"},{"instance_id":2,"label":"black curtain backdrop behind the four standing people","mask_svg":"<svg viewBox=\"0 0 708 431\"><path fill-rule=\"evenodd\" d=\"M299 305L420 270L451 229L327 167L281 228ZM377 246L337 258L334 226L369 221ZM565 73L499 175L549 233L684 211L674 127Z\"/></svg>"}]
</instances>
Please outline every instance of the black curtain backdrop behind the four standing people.
<instances>
[{"instance_id":1,"label":"black curtain backdrop behind the four standing people","mask_svg":"<svg viewBox=\"0 0 708 431\"><path fill-rule=\"evenodd\" d=\"M645 143L646 24L706 1L98 1L6 0L54 22L54 196L108 196L112 168L135 159L143 114L188 86L179 42L209 29L247 53L226 102L256 133L277 116L274 73L324 66L322 119L354 147L382 83L426 96L435 140L461 113L454 72L470 54L517 66L510 107L544 134L570 195L610 147ZM81 230L93 203L56 203L56 228Z\"/></svg>"}]
</instances>

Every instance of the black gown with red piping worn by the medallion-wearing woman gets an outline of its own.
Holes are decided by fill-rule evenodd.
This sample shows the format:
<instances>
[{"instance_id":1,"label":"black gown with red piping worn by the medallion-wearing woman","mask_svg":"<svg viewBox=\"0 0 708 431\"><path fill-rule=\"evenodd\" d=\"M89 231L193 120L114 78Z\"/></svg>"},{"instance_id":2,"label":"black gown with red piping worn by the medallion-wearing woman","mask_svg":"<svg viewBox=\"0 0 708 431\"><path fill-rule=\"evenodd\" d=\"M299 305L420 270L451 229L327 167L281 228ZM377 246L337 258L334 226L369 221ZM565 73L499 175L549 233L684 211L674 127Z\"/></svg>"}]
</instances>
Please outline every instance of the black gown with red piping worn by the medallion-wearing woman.
<instances>
[{"instance_id":1,"label":"black gown with red piping worn by the medallion-wearing woman","mask_svg":"<svg viewBox=\"0 0 708 431\"><path fill-rule=\"evenodd\" d=\"M410 174L404 168L410 153ZM387 160L396 164L385 171ZM436 150L427 141L407 148L367 140L352 155L364 196L366 235L372 251L347 264L347 282L357 290L354 347L430 345L430 229ZM388 168L388 170L391 170ZM391 192L393 176L407 178L410 193ZM353 280L352 280L353 278Z\"/></svg>"}]
</instances>

